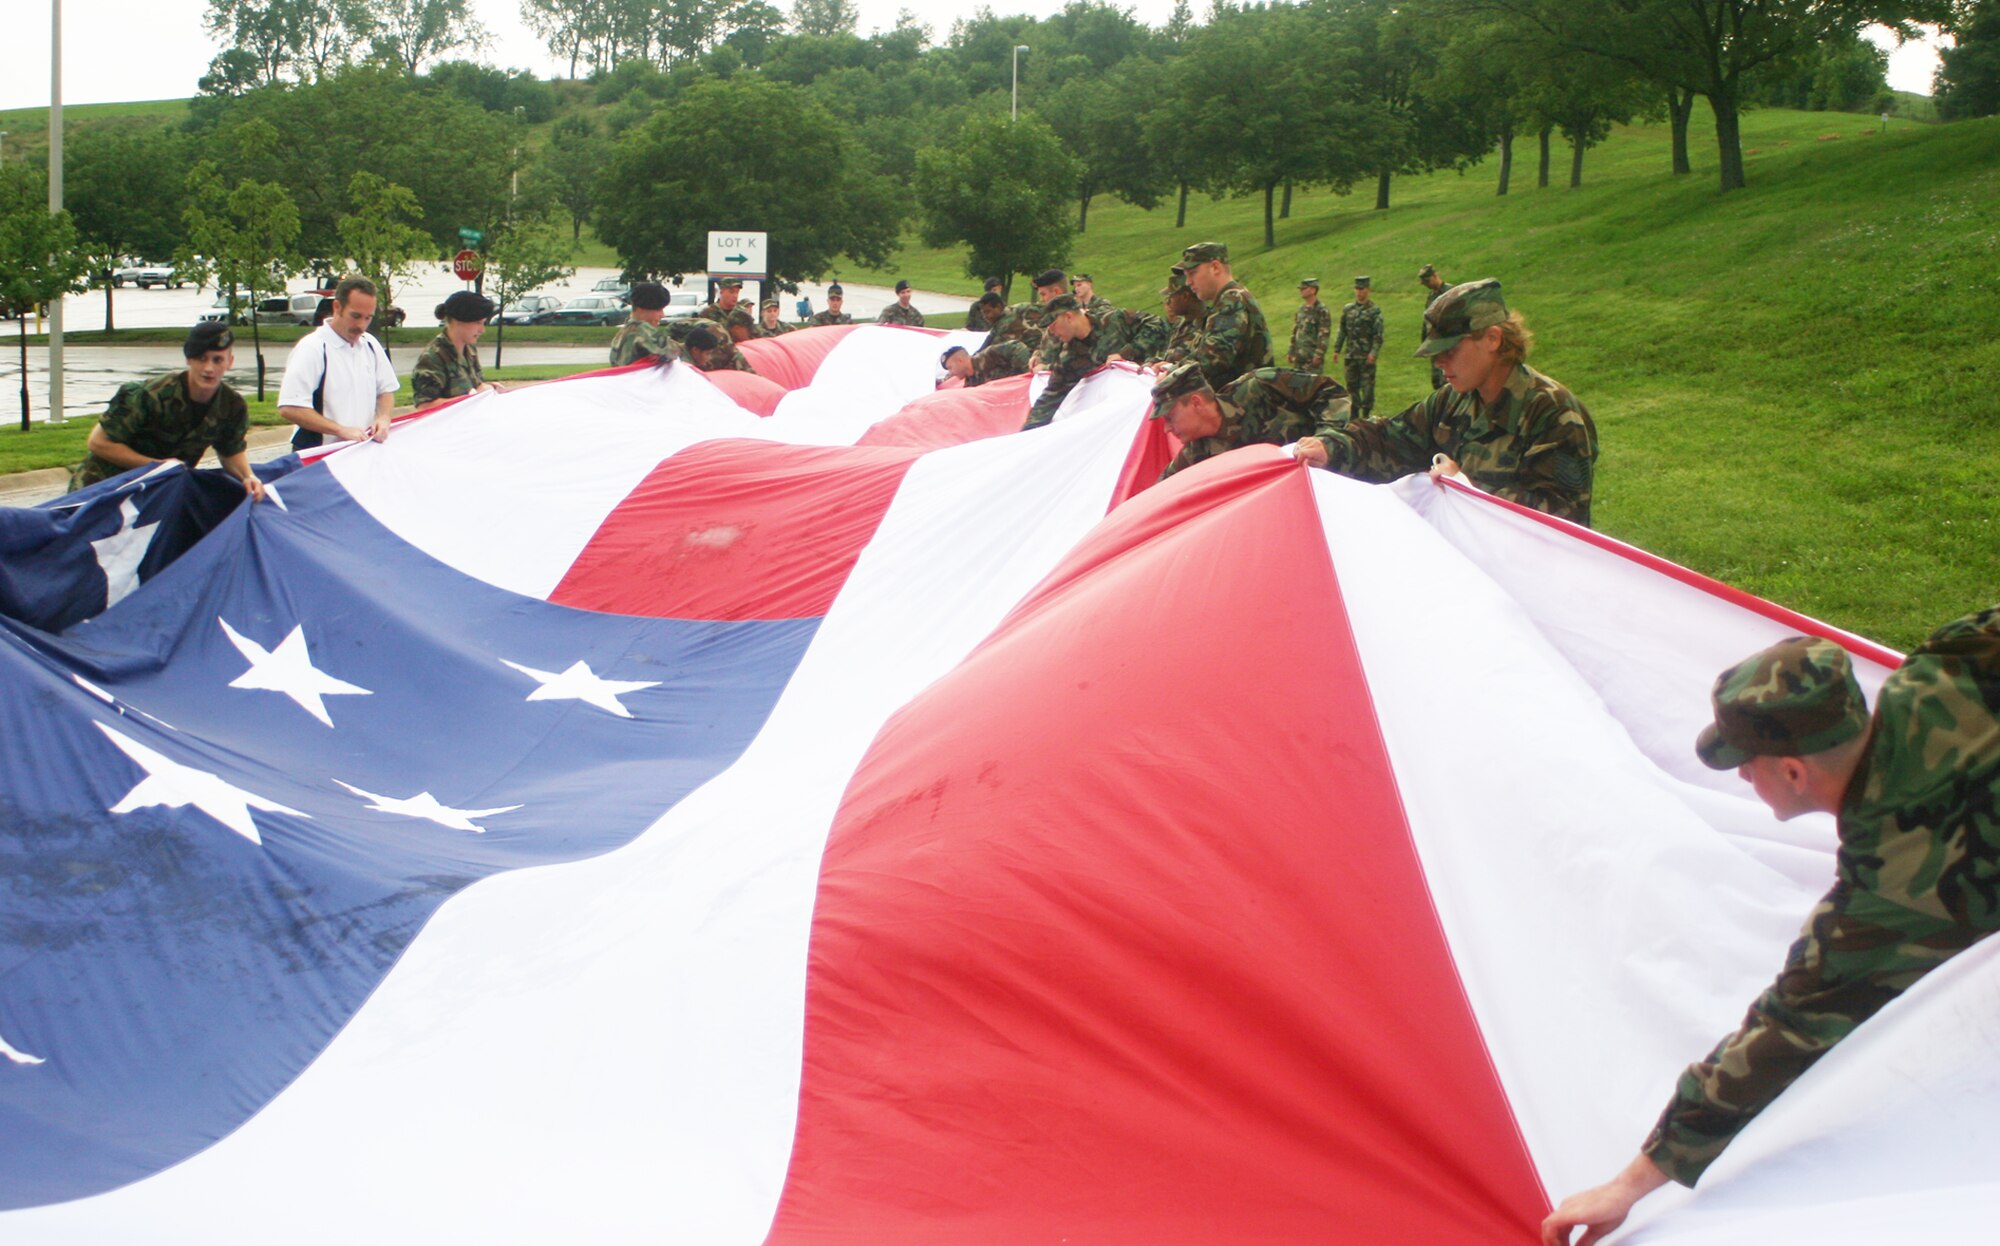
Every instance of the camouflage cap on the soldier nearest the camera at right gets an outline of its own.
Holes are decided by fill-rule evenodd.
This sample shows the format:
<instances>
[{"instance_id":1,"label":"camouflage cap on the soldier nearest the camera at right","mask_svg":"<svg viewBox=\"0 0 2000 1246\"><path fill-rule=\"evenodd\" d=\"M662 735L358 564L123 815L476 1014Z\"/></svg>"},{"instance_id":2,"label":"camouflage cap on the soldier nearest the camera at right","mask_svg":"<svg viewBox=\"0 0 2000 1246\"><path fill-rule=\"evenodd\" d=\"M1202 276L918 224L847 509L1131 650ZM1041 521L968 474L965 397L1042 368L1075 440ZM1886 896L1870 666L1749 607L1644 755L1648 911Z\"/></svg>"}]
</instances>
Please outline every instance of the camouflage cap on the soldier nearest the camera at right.
<instances>
[{"instance_id":1,"label":"camouflage cap on the soldier nearest the camera at right","mask_svg":"<svg viewBox=\"0 0 2000 1246\"><path fill-rule=\"evenodd\" d=\"M1802 758L1868 728L1868 702L1848 652L1832 640L1790 636L1716 676L1716 720L1694 752L1712 770L1754 756Z\"/></svg>"}]
</instances>

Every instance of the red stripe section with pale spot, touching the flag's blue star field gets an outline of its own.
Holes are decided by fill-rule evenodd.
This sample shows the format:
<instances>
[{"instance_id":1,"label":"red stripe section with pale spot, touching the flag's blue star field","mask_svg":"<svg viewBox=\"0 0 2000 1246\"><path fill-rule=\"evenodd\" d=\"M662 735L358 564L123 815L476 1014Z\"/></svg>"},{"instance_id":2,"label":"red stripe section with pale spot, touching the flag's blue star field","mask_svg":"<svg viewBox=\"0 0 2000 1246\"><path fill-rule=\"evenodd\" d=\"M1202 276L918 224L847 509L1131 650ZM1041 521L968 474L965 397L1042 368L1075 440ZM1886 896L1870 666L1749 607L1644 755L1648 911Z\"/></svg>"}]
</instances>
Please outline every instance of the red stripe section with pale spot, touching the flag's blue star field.
<instances>
[{"instance_id":1,"label":"red stripe section with pale spot, touching the flag's blue star field","mask_svg":"<svg viewBox=\"0 0 2000 1246\"><path fill-rule=\"evenodd\" d=\"M818 618L914 450L702 442L618 504L548 600L648 618Z\"/></svg>"}]
</instances>

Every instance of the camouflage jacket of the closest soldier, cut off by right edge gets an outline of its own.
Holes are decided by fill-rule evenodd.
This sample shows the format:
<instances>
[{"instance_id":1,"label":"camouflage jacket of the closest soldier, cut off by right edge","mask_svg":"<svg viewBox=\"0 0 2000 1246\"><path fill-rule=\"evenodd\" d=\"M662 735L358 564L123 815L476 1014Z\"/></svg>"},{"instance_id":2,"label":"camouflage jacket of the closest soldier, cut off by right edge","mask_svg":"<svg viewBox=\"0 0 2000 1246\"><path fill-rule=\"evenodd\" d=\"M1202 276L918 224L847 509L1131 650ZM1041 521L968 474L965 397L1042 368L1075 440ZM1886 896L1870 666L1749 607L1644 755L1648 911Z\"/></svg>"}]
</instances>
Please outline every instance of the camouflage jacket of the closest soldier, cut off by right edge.
<instances>
[{"instance_id":1,"label":"camouflage jacket of the closest soldier, cut off by right edge","mask_svg":"<svg viewBox=\"0 0 2000 1246\"><path fill-rule=\"evenodd\" d=\"M1692 1186L1828 1048L2000 928L2000 606L1882 684L1840 802L1834 886L1742 1028L1680 1074L1646 1154Z\"/></svg>"}]
</instances>

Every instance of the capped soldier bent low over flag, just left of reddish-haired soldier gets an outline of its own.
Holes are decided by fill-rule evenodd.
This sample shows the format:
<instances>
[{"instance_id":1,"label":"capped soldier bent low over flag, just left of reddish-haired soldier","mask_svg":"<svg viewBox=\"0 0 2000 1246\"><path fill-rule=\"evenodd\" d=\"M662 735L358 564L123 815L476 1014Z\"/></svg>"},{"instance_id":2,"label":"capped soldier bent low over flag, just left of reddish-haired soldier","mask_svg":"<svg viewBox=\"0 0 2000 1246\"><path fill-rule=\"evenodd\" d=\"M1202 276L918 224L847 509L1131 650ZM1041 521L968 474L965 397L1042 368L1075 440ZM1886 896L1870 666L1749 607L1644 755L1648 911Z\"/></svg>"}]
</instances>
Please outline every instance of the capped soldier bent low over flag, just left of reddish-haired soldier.
<instances>
[{"instance_id":1,"label":"capped soldier bent low over flag, just left of reddish-haired soldier","mask_svg":"<svg viewBox=\"0 0 2000 1246\"><path fill-rule=\"evenodd\" d=\"M1258 368L1220 394L1200 366L1180 364L1152 388L1152 418L1180 438L1160 480L1238 446L1286 446L1348 420L1348 392L1330 376Z\"/></svg>"}]
</instances>

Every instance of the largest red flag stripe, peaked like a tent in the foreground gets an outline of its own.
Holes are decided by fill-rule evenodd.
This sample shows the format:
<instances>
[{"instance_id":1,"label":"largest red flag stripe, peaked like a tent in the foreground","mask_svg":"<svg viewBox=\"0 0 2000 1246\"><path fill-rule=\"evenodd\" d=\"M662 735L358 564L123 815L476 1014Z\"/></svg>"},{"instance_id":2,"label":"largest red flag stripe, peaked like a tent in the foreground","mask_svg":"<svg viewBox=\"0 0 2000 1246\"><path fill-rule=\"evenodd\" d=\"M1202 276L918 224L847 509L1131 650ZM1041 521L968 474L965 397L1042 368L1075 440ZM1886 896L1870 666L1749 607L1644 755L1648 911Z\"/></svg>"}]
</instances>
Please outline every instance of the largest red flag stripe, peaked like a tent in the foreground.
<instances>
[{"instance_id":1,"label":"largest red flag stripe, peaked like a tent in the foreground","mask_svg":"<svg viewBox=\"0 0 2000 1246\"><path fill-rule=\"evenodd\" d=\"M1244 462L1248 460L1248 462ZM882 730L770 1242L1530 1242L1306 468L1120 506Z\"/></svg>"}]
</instances>

